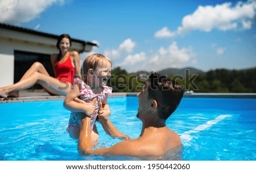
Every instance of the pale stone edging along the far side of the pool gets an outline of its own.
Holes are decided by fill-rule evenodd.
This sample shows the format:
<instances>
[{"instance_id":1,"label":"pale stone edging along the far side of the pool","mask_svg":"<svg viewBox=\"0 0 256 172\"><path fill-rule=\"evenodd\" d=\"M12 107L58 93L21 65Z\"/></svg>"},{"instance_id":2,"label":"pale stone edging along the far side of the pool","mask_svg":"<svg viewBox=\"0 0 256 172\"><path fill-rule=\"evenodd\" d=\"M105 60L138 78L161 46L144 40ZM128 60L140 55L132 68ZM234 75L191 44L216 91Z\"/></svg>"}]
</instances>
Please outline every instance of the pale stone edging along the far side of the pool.
<instances>
[{"instance_id":1,"label":"pale stone edging along the far side of the pool","mask_svg":"<svg viewBox=\"0 0 256 172\"><path fill-rule=\"evenodd\" d=\"M109 97L136 97L137 93L112 93ZM184 98L246 98L255 99L256 93L185 93ZM63 95L49 95L44 90L23 90L19 98L0 98L0 103L64 100Z\"/></svg>"}]
</instances>

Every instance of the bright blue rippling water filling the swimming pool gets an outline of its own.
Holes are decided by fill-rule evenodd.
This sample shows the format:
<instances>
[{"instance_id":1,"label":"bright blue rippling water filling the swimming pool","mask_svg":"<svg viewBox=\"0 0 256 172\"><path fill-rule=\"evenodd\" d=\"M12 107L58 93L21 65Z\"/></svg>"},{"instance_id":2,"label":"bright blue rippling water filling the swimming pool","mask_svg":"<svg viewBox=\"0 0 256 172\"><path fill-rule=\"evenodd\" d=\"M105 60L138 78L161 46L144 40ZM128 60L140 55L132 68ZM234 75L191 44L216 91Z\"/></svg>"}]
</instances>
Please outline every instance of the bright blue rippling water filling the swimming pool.
<instances>
[{"instance_id":1,"label":"bright blue rippling water filling the swimming pool","mask_svg":"<svg viewBox=\"0 0 256 172\"><path fill-rule=\"evenodd\" d=\"M114 125L137 138L138 98L109 98L109 104ZM81 156L65 131L69 113L63 100L0 104L0 160L144 160ZM181 137L183 160L256 160L256 99L183 98L167 126ZM121 141L97 127L98 147Z\"/></svg>"}]
</instances>

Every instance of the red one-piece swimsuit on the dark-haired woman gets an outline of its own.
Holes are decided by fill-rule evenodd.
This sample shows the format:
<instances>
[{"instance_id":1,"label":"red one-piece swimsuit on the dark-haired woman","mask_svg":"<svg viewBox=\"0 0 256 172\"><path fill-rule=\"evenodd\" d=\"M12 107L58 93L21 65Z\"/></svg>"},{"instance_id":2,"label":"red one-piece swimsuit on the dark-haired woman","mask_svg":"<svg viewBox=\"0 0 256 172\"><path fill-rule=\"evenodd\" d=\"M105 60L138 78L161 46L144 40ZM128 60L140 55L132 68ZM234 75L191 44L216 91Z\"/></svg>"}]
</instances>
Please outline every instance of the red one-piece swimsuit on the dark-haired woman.
<instances>
[{"instance_id":1,"label":"red one-piece swimsuit on the dark-haired woman","mask_svg":"<svg viewBox=\"0 0 256 172\"><path fill-rule=\"evenodd\" d=\"M56 79L63 82L69 82L73 85L75 68L72 66L70 54L67 60L62 63L56 60L54 62L54 70L56 73Z\"/></svg>"}]
</instances>

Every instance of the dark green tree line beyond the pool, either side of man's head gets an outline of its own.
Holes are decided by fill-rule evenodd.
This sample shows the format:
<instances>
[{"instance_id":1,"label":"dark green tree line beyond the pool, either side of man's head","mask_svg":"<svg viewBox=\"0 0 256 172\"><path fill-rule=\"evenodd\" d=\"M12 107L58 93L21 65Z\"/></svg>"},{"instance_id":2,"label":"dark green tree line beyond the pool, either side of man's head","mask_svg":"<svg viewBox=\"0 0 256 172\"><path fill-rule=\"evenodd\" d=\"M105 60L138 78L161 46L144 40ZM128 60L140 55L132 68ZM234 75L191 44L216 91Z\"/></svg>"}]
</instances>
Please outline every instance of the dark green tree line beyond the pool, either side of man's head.
<instances>
[{"instance_id":1,"label":"dark green tree line beyond the pool, either side of man's head","mask_svg":"<svg viewBox=\"0 0 256 172\"><path fill-rule=\"evenodd\" d=\"M143 73L143 74L142 74ZM142 75L140 75L142 74ZM113 87L113 92L138 92L146 83L147 75L144 72L127 73L120 67L112 70L112 77L108 85ZM179 82L184 91L193 90L200 93L256 93L256 68L249 70L209 70L193 75L168 75L168 78Z\"/></svg>"}]
</instances>

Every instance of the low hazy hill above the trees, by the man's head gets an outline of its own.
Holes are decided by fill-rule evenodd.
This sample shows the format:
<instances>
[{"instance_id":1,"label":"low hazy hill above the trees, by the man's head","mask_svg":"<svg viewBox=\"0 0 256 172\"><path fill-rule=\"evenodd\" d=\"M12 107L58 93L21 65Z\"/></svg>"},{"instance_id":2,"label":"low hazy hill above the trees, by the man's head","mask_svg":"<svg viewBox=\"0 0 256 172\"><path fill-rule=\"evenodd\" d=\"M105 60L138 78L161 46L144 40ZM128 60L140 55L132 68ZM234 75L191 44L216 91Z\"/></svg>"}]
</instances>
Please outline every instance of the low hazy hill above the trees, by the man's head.
<instances>
[{"instance_id":1,"label":"low hazy hill above the trees, by the man's head","mask_svg":"<svg viewBox=\"0 0 256 172\"><path fill-rule=\"evenodd\" d=\"M199 74L199 73L205 73L202 70L196 69L196 68L182 68L182 69L177 69L177 68L168 68L168 69L163 69L158 71L160 74L164 75L184 75L185 70L189 70L190 74Z\"/></svg>"}]
</instances>

